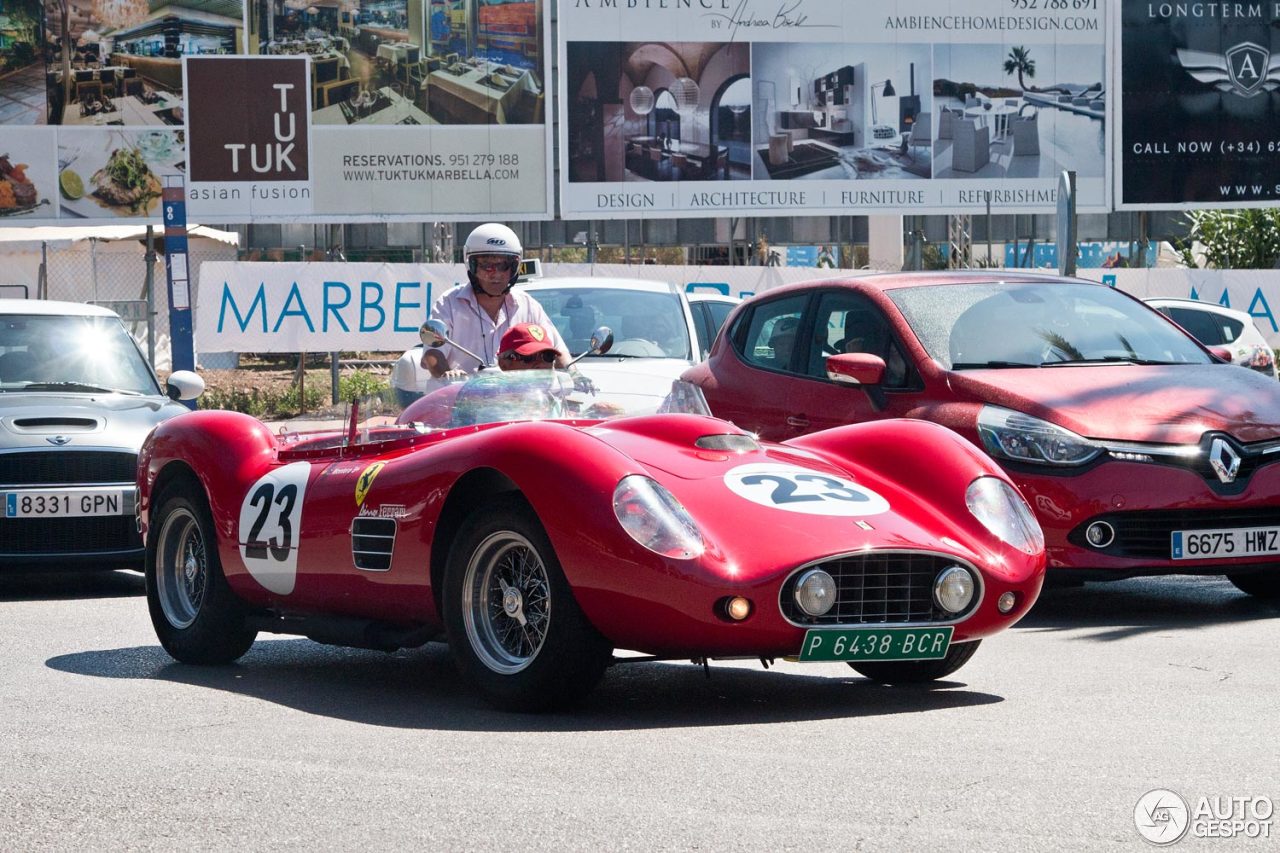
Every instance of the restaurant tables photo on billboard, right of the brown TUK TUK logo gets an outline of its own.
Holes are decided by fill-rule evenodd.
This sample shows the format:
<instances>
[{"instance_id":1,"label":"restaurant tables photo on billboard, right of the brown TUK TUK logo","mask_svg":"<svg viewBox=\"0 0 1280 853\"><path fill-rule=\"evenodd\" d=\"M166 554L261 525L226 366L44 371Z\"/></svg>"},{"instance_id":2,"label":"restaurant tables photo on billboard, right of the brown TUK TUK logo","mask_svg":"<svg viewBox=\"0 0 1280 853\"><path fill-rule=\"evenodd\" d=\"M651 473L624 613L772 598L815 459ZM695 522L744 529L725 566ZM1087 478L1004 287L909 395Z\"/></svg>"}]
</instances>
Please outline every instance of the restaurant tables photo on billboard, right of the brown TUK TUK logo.
<instances>
[{"instance_id":1,"label":"restaurant tables photo on billboard, right of the brown TUK TUK logo","mask_svg":"<svg viewBox=\"0 0 1280 853\"><path fill-rule=\"evenodd\" d=\"M543 124L543 0L253 0L259 53L311 60L315 124Z\"/></svg>"}]
</instances>

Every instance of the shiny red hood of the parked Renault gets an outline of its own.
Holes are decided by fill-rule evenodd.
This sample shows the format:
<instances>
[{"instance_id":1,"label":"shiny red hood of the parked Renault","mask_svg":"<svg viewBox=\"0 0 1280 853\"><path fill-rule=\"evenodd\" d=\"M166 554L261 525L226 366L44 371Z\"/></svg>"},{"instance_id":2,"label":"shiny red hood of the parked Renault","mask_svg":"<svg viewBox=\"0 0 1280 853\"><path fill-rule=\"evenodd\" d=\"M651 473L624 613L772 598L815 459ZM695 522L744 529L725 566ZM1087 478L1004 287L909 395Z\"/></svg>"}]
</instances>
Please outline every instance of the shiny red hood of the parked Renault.
<instances>
[{"instance_id":1,"label":"shiny red hood of the parked Renault","mask_svg":"<svg viewBox=\"0 0 1280 853\"><path fill-rule=\"evenodd\" d=\"M1280 383L1231 365L1097 365L950 374L964 398L1043 418L1087 438L1194 444L1210 430L1280 437Z\"/></svg>"}]
</instances>

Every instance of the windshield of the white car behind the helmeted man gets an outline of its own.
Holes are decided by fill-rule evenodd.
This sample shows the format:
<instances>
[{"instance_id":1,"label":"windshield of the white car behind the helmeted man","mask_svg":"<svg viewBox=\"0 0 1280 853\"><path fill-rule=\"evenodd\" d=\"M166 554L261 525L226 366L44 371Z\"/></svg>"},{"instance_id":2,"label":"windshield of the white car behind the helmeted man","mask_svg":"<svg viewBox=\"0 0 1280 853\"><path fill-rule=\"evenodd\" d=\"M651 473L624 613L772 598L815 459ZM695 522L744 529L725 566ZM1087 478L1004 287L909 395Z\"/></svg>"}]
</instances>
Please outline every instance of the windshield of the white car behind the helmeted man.
<instances>
[{"instance_id":1,"label":"windshield of the white car behind the helmeted man","mask_svg":"<svg viewBox=\"0 0 1280 853\"><path fill-rule=\"evenodd\" d=\"M599 325L613 329L613 348L604 356L691 359L685 306L676 293L621 287L540 287L530 295L550 315L573 355L590 346Z\"/></svg>"}]
</instances>

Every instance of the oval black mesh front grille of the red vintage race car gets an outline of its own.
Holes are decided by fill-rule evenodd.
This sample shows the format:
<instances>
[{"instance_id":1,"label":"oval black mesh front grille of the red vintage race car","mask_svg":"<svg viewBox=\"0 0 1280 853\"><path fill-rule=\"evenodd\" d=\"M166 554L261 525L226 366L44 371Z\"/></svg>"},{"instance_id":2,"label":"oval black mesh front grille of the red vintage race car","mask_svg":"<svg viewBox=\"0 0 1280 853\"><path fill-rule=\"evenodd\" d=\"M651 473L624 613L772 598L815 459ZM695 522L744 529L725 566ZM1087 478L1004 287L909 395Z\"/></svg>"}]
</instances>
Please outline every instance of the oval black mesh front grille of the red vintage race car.
<instances>
[{"instance_id":1,"label":"oval black mesh front grille of the red vintage race car","mask_svg":"<svg viewBox=\"0 0 1280 853\"><path fill-rule=\"evenodd\" d=\"M933 601L933 581L942 570L964 566L955 557L933 553L877 551L810 564L782 584L782 615L797 625L881 625L892 622L946 622L948 613ZM836 606L824 616L809 616L795 602L795 585L808 569L822 569L836 580ZM979 594L974 596L977 605Z\"/></svg>"}]
</instances>

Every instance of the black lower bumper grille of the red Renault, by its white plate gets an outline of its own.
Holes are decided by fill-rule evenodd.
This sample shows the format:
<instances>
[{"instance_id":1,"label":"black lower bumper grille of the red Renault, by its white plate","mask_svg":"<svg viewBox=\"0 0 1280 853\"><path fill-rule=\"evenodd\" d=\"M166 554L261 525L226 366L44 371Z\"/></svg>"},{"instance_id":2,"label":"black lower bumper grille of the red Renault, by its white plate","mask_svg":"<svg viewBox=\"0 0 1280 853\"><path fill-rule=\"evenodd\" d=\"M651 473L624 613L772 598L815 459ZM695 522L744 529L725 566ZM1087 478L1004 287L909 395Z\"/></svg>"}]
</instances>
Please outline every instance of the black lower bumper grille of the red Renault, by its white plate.
<instances>
[{"instance_id":1,"label":"black lower bumper grille of the red Renault, by its white plate","mask_svg":"<svg viewBox=\"0 0 1280 853\"><path fill-rule=\"evenodd\" d=\"M1094 521L1115 528L1116 538L1106 548L1094 548L1084 532ZM1224 528L1272 528L1277 521L1275 507L1239 510L1152 510L1108 512L1097 515L1066 534L1068 542L1096 553L1130 560L1170 560L1174 530L1220 530Z\"/></svg>"}]
</instances>

